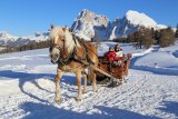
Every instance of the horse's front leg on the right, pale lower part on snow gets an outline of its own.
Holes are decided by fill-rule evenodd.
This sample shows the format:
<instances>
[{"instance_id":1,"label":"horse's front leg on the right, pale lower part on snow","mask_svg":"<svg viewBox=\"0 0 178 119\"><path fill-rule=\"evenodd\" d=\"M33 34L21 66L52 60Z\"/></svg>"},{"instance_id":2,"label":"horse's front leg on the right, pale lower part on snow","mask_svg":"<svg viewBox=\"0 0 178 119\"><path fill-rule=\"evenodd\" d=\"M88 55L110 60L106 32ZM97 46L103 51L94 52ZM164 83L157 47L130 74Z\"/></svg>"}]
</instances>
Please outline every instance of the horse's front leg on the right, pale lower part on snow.
<instances>
[{"instance_id":1,"label":"horse's front leg on the right, pale lower part on snow","mask_svg":"<svg viewBox=\"0 0 178 119\"><path fill-rule=\"evenodd\" d=\"M81 71L76 72L76 79L77 79L77 85L78 85L78 96L77 100L82 99L82 88L81 88Z\"/></svg>"}]
</instances>

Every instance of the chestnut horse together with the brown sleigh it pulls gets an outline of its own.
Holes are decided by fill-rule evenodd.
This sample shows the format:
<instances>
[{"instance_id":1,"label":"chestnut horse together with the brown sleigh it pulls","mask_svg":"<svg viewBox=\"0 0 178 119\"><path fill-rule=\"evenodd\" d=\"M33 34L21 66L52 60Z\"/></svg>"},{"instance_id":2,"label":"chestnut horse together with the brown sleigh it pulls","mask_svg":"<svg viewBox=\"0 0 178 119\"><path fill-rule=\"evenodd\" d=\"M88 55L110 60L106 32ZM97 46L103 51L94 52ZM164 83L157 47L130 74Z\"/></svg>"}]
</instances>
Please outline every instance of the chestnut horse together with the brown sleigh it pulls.
<instances>
[{"instance_id":1,"label":"chestnut horse together with the brown sleigh it pulls","mask_svg":"<svg viewBox=\"0 0 178 119\"><path fill-rule=\"evenodd\" d=\"M89 76L92 85L92 91L96 92L97 78L107 77L112 82L120 82L120 79L128 73L130 57L123 61L120 68L113 67L111 63L108 65L105 57L98 58L95 44L76 38L68 28L51 26L49 40L51 41L51 62L58 63L56 76L56 102L58 103L61 102L60 79L65 72L76 73L78 85L77 100L81 100L82 93L87 91L87 76ZM86 68L88 68L89 73L86 72ZM83 90L81 87L81 76L85 79Z\"/></svg>"}]
</instances>

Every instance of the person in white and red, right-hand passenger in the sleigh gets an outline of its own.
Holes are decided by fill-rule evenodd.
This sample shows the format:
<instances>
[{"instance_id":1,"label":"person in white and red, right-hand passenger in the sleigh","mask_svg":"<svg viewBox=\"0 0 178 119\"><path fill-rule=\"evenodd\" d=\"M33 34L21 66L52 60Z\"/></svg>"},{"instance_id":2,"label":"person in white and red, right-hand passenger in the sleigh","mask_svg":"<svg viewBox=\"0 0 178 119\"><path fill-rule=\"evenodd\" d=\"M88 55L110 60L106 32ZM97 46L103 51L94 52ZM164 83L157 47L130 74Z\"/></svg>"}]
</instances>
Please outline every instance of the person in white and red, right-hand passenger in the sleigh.
<instances>
[{"instance_id":1,"label":"person in white and red, right-hand passenger in the sleigh","mask_svg":"<svg viewBox=\"0 0 178 119\"><path fill-rule=\"evenodd\" d=\"M120 44L115 46L115 51L116 51L116 65L120 66L123 59L123 52L122 49L120 48Z\"/></svg>"}]
</instances>

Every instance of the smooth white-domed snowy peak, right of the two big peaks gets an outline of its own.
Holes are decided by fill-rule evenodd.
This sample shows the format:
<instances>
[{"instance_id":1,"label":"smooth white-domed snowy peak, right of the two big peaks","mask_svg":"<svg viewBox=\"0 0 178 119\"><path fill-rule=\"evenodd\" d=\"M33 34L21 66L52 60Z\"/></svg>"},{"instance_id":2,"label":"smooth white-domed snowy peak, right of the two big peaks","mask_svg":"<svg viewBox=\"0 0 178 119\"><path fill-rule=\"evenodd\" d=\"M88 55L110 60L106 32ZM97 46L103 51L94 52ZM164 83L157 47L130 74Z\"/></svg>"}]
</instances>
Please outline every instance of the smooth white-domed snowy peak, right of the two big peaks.
<instances>
[{"instance_id":1,"label":"smooth white-domed snowy peak, right of the two big peaks","mask_svg":"<svg viewBox=\"0 0 178 119\"><path fill-rule=\"evenodd\" d=\"M111 24L109 39L125 37L129 33L137 31L140 27L164 29L167 26L158 24L154 19L145 13L129 10L121 19L115 19Z\"/></svg>"}]
</instances>

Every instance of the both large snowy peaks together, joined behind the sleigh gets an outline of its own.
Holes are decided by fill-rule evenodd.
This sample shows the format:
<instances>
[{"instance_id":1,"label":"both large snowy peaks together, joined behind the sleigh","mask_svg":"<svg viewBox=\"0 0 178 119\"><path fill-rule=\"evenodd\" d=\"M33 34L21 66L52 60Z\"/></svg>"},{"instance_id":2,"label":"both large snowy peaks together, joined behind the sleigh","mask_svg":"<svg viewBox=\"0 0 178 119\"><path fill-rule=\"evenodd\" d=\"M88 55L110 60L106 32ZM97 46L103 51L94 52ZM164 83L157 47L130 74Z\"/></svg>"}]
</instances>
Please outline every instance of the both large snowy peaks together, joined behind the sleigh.
<instances>
[{"instance_id":1,"label":"both large snowy peaks together, joined behind the sleigh","mask_svg":"<svg viewBox=\"0 0 178 119\"><path fill-rule=\"evenodd\" d=\"M132 10L129 10L123 18L109 21L107 17L85 9L79 13L71 29L76 34L85 39L91 39L97 33L102 40L112 40L132 33L140 27L167 28L167 26L158 24L147 14Z\"/></svg>"}]
</instances>

